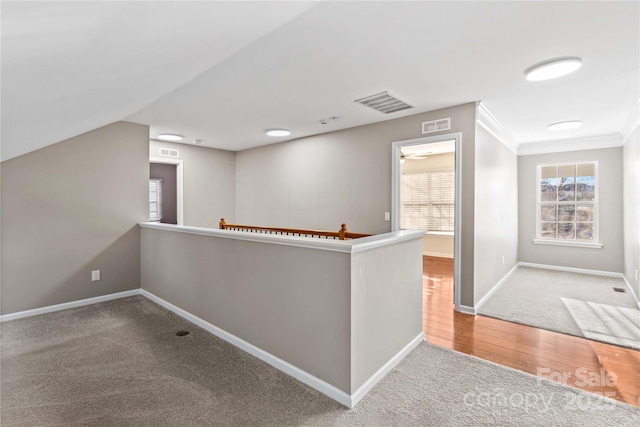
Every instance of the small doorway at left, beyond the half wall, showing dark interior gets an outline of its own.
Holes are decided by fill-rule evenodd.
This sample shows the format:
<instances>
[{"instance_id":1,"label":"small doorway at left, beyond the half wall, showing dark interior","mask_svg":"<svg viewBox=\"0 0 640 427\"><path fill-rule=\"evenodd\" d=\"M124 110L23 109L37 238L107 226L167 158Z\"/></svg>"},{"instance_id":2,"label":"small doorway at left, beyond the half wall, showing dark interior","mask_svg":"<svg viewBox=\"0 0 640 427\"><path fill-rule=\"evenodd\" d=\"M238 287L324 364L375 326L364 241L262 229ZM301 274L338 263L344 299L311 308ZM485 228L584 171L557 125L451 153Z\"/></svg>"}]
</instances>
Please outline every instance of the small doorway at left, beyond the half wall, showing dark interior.
<instances>
[{"instance_id":1,"label":"small doorway at left, beyond the half wall, showing dark interior","mask_svg":"<svg viewBox=\"0 0 640 427\"><path fill-rule=\"evenodd\" d=\"M157 198L156 212L160 212L157 222L183 225L182 206L182 161L170 159L150 159L150 216L153 216L152 197ZM157 186L152 195L151 189ZM153 219L152 219L153 220Z\"/></svg>"}]
</instances>

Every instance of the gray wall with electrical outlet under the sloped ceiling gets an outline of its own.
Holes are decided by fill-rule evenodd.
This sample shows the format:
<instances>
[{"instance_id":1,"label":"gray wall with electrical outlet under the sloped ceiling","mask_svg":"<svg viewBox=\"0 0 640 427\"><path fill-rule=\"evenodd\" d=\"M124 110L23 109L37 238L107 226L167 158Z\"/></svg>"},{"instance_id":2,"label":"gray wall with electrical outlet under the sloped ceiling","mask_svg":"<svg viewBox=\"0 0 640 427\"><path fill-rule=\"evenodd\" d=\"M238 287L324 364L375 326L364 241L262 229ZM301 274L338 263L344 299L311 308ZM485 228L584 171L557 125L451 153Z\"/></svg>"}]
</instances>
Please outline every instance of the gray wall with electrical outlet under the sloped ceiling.
<instances>
[{"instance_id":1,"label":"gray wall with electrical outlet under the sloped ceiling","mask_svg":"<svg viewBox=\"0 0 640 427\"><path fill-rule=\"evenodd\" d=\"M118 122L2 163L2 314L140 287L148 141Z\"/></svg>"}]
</instances>

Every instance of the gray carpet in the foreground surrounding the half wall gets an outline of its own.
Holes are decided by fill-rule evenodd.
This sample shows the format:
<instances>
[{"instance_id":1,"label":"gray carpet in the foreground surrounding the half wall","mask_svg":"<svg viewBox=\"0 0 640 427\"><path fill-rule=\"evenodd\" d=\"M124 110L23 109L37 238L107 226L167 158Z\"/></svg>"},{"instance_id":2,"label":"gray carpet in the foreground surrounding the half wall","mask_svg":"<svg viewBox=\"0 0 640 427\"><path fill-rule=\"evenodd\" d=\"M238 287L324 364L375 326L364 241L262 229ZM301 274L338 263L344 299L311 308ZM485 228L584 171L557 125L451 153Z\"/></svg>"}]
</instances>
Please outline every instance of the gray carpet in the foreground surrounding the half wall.
<instances>
[{"instance_id":1,"label":"gray carpet in the foreground surrounding the half wall","mask_svg":"<svg viewBox=\"0 0 640 427\"><path fill-rule=\"evenodd\" d=\"M348 410L143 297L3 323L1 361L5 427L640 425L633 406L426 343Z\"/></svg>"}]
</instances>

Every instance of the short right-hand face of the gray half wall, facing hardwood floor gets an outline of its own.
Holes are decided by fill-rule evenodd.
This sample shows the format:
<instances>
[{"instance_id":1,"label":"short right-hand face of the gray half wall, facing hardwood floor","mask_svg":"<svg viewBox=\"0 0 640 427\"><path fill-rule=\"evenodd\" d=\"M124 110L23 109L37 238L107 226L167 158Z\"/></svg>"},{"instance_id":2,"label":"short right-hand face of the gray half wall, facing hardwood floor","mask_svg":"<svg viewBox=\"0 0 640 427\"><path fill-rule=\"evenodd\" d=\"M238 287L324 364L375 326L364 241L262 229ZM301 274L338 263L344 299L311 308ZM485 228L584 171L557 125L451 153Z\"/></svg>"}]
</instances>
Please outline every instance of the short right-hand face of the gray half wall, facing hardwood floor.
<instances>
[{"instance_id":1,"label":"short right-hand face of the gray half wall, facing hardwood floor","mask_svg":"<svg viewBox=\"0 0 640 427\"><path fill-rule=\"evenodd\" d=\"M421 246L414 239L351 256L352 392L422 332Z\"/></svg>"}]
</instances>

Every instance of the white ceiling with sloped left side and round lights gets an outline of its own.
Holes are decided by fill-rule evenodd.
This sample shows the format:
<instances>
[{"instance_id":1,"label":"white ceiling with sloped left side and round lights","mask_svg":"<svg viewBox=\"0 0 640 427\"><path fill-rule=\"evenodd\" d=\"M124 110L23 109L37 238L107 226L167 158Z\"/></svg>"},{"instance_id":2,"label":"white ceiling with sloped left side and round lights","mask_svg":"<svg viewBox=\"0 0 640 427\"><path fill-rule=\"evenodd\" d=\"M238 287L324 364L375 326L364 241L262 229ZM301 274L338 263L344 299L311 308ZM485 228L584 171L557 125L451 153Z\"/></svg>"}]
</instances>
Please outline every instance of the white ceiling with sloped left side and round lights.
<instances>
[{"instance_id":1,"label":"white ceiling with sloped left side and round lights","mask_svg":"<svg viewBox=\"0 0 640 427\"><path fill-rule=\"evenodd\" d=\"M2 1L2 159L118 120L242 150L472 101L515 143L613 135L640 98L639 4ZM583 67L524 79L561 56ZM385 90L416 108L353 102Z\"/></svg>"}]
</instances>

